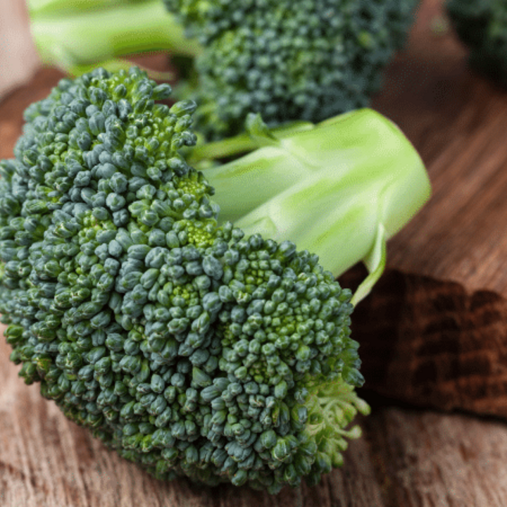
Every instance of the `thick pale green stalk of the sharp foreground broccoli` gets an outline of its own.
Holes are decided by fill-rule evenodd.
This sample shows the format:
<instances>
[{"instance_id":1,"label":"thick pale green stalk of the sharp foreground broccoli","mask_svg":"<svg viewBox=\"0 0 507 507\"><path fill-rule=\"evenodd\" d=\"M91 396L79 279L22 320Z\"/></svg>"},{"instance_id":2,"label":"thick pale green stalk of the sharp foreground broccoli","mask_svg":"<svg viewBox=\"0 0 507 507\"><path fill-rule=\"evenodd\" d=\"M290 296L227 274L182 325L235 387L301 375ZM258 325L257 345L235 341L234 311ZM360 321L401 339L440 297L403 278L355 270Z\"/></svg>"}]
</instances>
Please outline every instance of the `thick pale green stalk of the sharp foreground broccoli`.
<instances>
[{"instance_id":1,"label":"thick pale green stalk of the sharp foreground broccoli","mask_svg":"<svg viewBox=\"0 0 507 507\"><path fill-rule=\"evenodd\" d=\"M358 302L382 273L387 239L430 196L423 161L398 127L370 109L289 135L259 122L251 118L250 131L264 146L204 169L220 218L246 234L291 238L335 276L365 261L373 280Z\"/></svg>"}]
</instances>

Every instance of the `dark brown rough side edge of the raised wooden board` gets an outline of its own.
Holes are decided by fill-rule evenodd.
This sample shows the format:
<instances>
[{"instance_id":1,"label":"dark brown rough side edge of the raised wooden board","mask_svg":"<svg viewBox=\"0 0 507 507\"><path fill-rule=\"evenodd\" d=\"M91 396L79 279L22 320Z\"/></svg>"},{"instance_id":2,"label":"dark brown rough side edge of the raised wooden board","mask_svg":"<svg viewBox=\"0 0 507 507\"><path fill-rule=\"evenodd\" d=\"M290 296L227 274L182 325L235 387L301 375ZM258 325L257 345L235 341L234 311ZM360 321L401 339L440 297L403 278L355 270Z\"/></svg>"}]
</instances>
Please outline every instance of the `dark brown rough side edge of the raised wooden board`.
<instances>
[{"instance_id":1,"label":"dark brown rough side edge of the raised wooden board","mask_svg":"<svg viewBox=\"0 0 507 507\"><path fill-rule=\"evenodd\" d=\"M347 273L356 284L361 270ZM353 314L365 389L507 418L507 305L492 291L389 270Z\"/></svg>"}]
</instances>

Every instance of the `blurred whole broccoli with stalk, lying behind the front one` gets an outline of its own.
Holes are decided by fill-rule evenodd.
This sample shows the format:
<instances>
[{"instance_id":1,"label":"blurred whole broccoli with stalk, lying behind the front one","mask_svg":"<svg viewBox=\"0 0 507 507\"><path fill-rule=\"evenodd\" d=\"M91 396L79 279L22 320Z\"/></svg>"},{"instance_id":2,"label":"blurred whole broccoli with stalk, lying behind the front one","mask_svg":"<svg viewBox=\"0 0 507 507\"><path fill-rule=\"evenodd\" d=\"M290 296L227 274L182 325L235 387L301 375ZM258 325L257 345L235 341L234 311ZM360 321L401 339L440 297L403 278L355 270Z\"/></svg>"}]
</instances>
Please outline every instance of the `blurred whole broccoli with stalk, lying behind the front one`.
<instances>
[{"instance_id":1,"label":"blurred whole broccoli with stalk, lying behind the front one","mask_svg":"<svg viewBox=\"0 0 507 507\"><path fill-rule=\"evenodd\" d=\"M194 121L208 139L239 133L251 112L275 126L316 123L367 106L384 66L403 45L417 4L164 0L173 14L164 16L162 1L93 3L92 12L65 15L61 0L50 0L49 7L48 0L31 0L32 32L46 61L74 71L128 51L169 51L180 77L187 77L177 97L199 104ZM68 10L90 9L80 4ZM178 20L194 38L184 39Z\"/></svg>"}]
</instances>

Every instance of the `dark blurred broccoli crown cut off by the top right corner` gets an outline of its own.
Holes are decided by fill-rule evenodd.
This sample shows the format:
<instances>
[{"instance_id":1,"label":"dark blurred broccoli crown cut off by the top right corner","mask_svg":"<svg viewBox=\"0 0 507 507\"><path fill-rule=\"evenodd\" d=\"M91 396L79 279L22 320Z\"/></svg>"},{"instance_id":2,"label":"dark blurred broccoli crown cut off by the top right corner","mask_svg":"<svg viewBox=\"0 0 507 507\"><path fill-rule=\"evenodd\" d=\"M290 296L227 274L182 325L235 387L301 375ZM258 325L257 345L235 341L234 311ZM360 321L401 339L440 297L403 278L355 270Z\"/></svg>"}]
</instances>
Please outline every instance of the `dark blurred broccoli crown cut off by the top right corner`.
<instances>
[{"instance_id":1,"label":"dark blurred broccoli crown cut off by the top right corner","mask_svg":"<svg viewBox=\"0 0 507 507\"><path fill-rule=\"evenodd\" d=\"M470 49L470 63L507 87L507 3L505 0L448 0L446 11L458 37Z\"/></svg>"}]
</instances>

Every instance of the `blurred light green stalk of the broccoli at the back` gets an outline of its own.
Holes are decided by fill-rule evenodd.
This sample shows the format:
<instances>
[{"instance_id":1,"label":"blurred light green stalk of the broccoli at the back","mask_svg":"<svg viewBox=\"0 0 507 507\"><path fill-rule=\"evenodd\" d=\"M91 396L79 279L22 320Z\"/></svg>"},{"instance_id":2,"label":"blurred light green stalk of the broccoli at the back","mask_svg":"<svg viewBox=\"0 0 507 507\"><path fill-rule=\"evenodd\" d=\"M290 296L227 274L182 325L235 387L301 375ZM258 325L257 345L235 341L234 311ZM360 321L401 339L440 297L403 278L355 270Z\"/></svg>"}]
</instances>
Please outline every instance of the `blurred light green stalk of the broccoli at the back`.
<instances>
[{"instance_id":1,"label":"blurred light green stalk of the broccoli at the back","mask_svg":"<svg viewBox=\"0 0 507 507\"><path fill-rule=\"evenodd\" d=\"M100 63L109 70L128 68L120 56L143 51L199 54L201 46L161 0L31 0L30 29L43 63L81 75Z\"/></svg>"}]
</instances>

